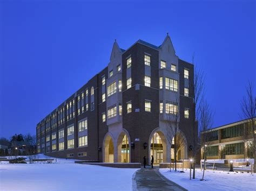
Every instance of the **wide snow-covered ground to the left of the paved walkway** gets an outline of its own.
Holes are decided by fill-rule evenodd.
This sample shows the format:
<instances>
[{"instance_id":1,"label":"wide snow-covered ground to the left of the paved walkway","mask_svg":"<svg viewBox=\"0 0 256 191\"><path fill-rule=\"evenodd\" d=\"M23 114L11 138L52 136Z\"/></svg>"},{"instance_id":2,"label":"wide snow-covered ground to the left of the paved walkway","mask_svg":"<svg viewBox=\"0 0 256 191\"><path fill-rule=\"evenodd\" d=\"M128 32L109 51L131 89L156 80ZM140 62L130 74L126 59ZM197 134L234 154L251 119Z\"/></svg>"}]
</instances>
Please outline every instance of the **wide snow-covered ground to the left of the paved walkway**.
<instances>
[{"instance_id":1,"label":"wide snow-covered ground to the left of the paved walkway","mask_svg":"<svg viewBox=\"0 0 256 191\"><path fill-rule=\"evenodd\" d=\"M46 158L39 155L39 158ZM0 163L0 190L132 190L136 168L75 164L57 159L53 164Z\"/></svg>"}]
</instances>

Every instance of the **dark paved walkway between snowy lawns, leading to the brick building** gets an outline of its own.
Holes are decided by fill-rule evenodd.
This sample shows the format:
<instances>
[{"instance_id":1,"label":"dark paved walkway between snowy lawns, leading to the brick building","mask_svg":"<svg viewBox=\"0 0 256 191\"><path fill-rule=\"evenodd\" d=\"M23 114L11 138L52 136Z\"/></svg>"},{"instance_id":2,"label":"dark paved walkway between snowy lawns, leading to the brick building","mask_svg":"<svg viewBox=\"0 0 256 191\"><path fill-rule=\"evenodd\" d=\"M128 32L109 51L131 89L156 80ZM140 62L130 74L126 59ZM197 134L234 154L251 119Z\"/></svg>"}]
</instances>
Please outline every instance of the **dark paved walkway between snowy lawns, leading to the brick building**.
<instances>
[{"instance_id":1,"label":"dark paved walkway between snowy lawns, leading to the brick building","mask_svg":"<svg viewBox=\"0 0 256 191\"><path fill-rule=\"evenodd\" d=\"M160 174L159 168L144 168L136 172L137 190L186 190Z\"/></svg>"}]
</instances>

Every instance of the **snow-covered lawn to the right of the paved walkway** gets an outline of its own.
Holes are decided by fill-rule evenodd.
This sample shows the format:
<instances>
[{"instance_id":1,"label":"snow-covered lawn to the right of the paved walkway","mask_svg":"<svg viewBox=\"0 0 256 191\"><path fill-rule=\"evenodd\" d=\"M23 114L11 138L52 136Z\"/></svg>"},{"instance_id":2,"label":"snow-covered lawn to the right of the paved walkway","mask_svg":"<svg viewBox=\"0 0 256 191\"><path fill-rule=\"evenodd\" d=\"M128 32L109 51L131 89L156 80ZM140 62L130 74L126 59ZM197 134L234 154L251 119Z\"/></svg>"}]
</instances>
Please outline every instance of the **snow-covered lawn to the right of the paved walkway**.
<instances>
[{"instance_id":1,"label":"snow-covered lawn to the right of the paved walkway","mask_svg":"<svg viewBox=\"0 0 256 191\"><path fill-rule=\"evenodd\" d=\"M181 169L178 169L181 171ZM170 168L160 168L160 173L167 179L188 190L255 190L256 174L223 171L205 171L205 181L200 181L203 171L196 169L196 179L190 180L190 169L185 173L170 172Z\"/></svg>"}]
</instances>

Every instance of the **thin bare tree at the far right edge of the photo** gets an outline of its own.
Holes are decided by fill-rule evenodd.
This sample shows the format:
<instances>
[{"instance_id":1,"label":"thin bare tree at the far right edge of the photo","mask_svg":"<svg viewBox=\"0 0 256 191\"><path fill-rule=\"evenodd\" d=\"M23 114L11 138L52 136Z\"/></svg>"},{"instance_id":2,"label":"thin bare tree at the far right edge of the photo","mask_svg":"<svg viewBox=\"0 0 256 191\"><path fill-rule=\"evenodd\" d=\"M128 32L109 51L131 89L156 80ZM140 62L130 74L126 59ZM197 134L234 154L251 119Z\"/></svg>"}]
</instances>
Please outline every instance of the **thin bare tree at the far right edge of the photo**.
<instances>
[{"instance_id":1,"label":"thin bare tree at the far right edge of the photo","mask_svg":"<svg viewBox=\"0 0 256 191\"><path fill-rule=\"evenodd\" d=\"M256 95L254 94L254 88L252 82L248 82L247 87L246 87L246 95L242 98L241 101L241 115L244 116L245 118L248 119L250 122L250 128L249 132L252 133L252 142L251 142L251 149L253 150L253 155L254 155L254 173L256 173L256 160L255 160L255 155L256 155L256 139L255 139L255 117L256 117ZM248 132L248 131L247 131Z\"/></svg>"}]
</instances>

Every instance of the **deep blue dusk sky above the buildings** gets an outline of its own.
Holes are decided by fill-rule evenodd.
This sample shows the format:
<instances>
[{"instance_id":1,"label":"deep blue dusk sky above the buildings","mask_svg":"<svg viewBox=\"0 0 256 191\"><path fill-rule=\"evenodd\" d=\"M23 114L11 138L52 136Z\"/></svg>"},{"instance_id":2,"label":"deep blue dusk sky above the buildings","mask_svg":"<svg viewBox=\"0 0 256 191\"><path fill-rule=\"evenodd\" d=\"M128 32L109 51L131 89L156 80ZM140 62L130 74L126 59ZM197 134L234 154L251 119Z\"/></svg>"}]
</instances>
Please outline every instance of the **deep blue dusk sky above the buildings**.
<instances>
[{"instance_id":1,"label":"deep blue dusk sky above the buildings","mask_svg":"<svg viewBox=\"0 0 256 191\"><path fill-rule=\"evenodd\" d=\"M107 66L114 39L159 46L166 32L180 59L206 74L214 125L241 120L256 86L255 1L1 1L0 137L36 124Z\"/></svg>"}]
</instances>

